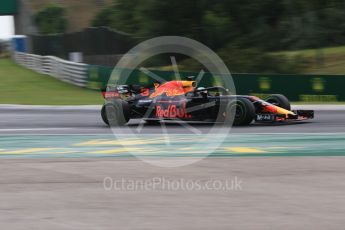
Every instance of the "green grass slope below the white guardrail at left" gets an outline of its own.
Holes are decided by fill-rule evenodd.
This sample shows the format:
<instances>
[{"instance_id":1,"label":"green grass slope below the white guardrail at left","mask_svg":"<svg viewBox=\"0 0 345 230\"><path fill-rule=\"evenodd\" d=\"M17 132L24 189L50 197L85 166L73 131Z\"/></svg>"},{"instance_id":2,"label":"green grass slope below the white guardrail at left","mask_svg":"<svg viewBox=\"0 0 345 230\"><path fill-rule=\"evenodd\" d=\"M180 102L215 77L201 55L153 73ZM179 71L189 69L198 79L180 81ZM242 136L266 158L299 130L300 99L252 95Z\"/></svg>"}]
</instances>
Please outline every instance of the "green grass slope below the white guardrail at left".
<instances>
[{"instance_id":1,"label":"green grass slope below the white guardrail at left","mask_svg":"<svg viewBox=\"0 0 345 230\"><path fill-rule=\"evenodd\" d=\"M0 59L0 104L87 105L102 104L100 92L61 82Z\"/></svg>"}]
</instances>

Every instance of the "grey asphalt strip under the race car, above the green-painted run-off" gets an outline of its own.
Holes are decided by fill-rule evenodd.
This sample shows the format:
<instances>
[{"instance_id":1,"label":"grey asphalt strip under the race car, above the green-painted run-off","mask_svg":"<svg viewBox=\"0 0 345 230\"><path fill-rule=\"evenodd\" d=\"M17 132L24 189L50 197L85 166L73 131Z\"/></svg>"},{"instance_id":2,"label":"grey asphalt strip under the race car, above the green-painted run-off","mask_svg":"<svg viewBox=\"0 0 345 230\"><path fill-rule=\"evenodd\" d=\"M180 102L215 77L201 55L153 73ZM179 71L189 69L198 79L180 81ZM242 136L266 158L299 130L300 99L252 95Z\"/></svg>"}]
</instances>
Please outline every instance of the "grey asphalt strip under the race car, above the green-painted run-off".
<instances>
[{"instance_id":1,"label":"grey asphalt strip under the race car, above the green-painted run-off","mask_svg":"<svg viewBox=\"0 0 345 230\"><path fill-rule=\"evenodd\" d=\"M317 109L317 108L316 108ZM139 120L131 120L129 128L135 131ZM212 125L193 124L201 132ZM179 124L167 124L170 133L189 132ZM161 133L160 125L145 125L143 133ZM345 111L316 111L315 119L283 124L253 124L235 127L233 133L342 133L345 132ZM103 124L100 111L92 109L23 109L0 107L0 135L2 134L111 134Z\"/></svg>"}]
</instances>

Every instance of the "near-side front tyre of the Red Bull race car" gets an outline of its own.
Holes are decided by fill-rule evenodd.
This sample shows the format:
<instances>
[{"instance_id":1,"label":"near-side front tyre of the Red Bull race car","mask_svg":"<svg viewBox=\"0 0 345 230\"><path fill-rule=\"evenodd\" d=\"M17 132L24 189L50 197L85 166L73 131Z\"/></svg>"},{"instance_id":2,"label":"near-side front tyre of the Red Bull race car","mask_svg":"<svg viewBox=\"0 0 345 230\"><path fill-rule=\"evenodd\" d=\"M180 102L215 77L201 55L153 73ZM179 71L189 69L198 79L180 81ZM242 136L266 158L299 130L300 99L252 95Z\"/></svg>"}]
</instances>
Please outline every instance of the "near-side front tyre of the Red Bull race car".
<instances>
[{"instance_id":1,"label":"near-side front tyre of the Red Bull race car","mask_svg":"<svg viewBox=\"0 0 345 230\"><path fill-rule=\"evenodd\" d=\"M249 125L255 118L255 107L246 98L231 101L226 108L225 122L234 126Z\"/></svg>"}]
</instances>

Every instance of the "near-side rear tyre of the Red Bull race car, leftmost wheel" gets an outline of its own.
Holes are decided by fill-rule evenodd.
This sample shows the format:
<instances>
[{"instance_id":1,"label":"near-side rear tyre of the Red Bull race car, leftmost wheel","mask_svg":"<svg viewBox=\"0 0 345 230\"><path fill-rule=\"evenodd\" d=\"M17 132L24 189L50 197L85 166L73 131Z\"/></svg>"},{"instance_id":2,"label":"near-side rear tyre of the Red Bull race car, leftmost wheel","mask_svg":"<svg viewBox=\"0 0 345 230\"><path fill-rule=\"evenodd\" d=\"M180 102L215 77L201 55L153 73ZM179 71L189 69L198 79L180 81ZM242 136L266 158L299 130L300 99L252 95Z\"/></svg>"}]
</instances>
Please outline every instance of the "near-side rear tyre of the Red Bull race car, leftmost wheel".
<instances>
[{"instance_id":1,"label":"near-side rear tyre of the Red Bull race car, leftmost wheel","mask_svg":"<svg viewBox=\"0 0 345 230\"><path fill-rule=\"evenodd\" d=\"M130 119L130 108L127 102L115 100L103 105L102 120L109 126L123 126Z\"/></svg>"}]
</instances>

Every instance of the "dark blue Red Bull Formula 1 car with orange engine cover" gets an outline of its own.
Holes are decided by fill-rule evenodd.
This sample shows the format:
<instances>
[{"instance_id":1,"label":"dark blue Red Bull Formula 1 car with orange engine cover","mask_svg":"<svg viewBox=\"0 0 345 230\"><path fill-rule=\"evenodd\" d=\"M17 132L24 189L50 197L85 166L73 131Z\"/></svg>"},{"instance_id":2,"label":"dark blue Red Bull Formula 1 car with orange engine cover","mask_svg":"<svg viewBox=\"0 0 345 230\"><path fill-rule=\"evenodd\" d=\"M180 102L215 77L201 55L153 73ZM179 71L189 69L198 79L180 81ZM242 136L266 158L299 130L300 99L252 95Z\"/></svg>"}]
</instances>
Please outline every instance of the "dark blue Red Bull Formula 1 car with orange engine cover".
<instances>
[{"instance_id":1,"label":"dark blue Red Bull Formula 1 car with orange engine cover","mask_svg":"<svg viewBox=\"0 0 345 230\"><path fill-rule=\"evenodd\" d=\"M153 87L109 85L102 94L105 98L102 119L111 126L124 125L132 118L149 123L178 120L238 126L253 121L303 121L314 117L312 110L291 111L288 99L281 94L273 94L265 100L230 95L220 86L197 88L193 80L155 83Z\"/></svg>"}]
</instances>

